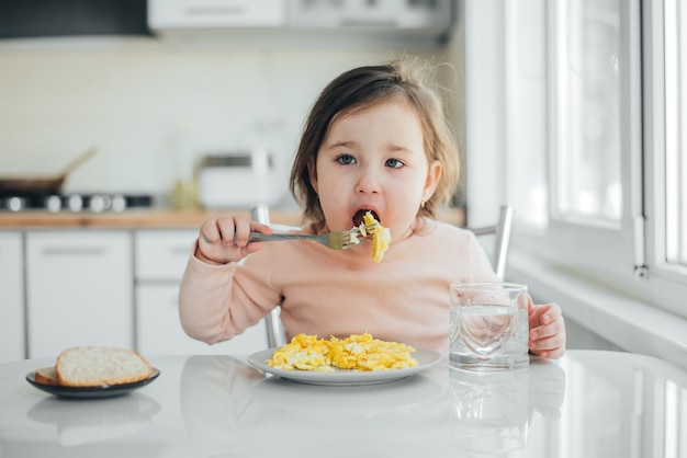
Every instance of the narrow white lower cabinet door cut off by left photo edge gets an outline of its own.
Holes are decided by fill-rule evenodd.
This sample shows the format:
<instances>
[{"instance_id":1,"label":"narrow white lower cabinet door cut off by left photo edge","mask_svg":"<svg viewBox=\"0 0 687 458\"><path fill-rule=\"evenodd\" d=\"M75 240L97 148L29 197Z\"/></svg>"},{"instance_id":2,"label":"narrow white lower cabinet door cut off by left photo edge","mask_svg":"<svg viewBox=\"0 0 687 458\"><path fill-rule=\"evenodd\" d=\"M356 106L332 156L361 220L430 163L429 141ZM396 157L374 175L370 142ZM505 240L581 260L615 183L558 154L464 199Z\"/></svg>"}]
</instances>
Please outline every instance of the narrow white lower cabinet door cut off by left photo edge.
<instances>
[{"instance_id":1,"label":"narrow white lower cabinet door cut off by left photo edge","mask_svg":"<svg viewBox=\"0 0 687 458\"><path fill-rule=\"evenodd\" d=\"M0 232L0 364L25 357L21 232Z\"/></svg>"}]
</instances>

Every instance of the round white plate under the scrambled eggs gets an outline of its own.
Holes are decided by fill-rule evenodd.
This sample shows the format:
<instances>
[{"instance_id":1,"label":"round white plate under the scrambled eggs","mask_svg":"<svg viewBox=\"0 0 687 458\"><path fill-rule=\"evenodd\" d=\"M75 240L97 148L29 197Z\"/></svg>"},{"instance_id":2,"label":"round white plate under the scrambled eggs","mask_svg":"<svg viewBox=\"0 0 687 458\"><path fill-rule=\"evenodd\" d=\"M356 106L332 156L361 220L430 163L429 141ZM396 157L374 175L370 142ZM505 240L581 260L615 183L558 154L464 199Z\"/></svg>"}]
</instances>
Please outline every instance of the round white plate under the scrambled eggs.
<instances>
[{"instance_id":1,"label":"round white plate under the scrambled eggs","mask_svg":"<svg viewBox=\"0 0 687 458\"><path fill-rule=\"evenodd\" d=\"M272 358L277 348L263 350L248 356L248 364L266 374L272 374L282 378L301 383L312 385L371 385L401 380L414 374L429 369L439 363L441 355L426 348L417 348L413 356L417 359L417 366L406 369L370 370L359 371L350 369L334 369L333 373L319 373L316 370L285 370L270 367L266 362Z\"/></svg>"}]
</instances>

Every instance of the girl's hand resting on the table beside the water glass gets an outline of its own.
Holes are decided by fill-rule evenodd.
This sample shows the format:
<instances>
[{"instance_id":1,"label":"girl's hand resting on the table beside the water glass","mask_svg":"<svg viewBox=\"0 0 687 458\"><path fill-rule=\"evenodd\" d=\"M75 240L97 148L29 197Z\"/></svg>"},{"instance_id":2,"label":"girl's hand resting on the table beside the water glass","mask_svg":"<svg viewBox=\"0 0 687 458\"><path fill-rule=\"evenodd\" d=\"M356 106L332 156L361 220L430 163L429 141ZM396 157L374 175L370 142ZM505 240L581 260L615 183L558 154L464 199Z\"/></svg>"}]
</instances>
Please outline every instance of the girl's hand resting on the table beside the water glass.
<instances>
[{"instance_id":1,"label":"girl's hand resting on the table beside the water glass","mask_svg":"<svg viewBox=\"0 0 687 458\"><path fill-rule=\"evenodd\" d=\"M534 306L529 302L530 352L543 358L556 359L565 353L565 322L556 304Z\"/></svg>"}]
</instances>

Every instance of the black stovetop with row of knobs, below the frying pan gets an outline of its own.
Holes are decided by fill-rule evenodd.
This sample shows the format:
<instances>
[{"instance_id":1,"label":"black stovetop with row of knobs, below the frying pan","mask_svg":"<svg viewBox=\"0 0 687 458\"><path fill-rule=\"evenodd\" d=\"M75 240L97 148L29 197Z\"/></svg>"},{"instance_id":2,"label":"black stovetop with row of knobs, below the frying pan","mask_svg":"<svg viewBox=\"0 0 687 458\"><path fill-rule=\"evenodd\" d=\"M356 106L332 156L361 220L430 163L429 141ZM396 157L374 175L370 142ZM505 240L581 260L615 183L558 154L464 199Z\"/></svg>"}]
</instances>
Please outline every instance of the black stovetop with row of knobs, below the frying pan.
<instances>
[{"instance_id":1,"label":"black stovetop with row of knobs, below the frying pan","mask_svg":"<svg viewBox=\"0 0 687 458\"><path fill-rule=\"evenodd\" d=\"M104 213L124 211L134 208L149 208L155 198L147 194L117 193L13 193L0 194L1 211L71 211Z\"/></svg>"}]
</instances>

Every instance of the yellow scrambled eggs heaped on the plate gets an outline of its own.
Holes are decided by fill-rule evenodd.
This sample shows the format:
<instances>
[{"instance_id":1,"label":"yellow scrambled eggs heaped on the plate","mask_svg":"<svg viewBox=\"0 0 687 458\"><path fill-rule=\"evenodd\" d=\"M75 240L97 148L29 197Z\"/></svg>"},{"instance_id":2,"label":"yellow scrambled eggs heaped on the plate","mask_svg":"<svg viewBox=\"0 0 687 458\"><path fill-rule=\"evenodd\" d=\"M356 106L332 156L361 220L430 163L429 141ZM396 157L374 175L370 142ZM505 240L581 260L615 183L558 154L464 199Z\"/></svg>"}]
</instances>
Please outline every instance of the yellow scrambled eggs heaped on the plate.
<instances>
[{"instance_id":1,"label":"yellow scrambled eggs heaped on the plate","mask_svg":"<svg viewBox=\"0 0 687 458\"><path fill-rule=\"evenodd\" d=\"M274 351L267 364L286 370L334 371L335 367L361 371L403 369L417 366L417 360L410 355L414 352L412 346L380 341L369 333L342 340L299 334Z\"/></svg>"}]
</instances>

